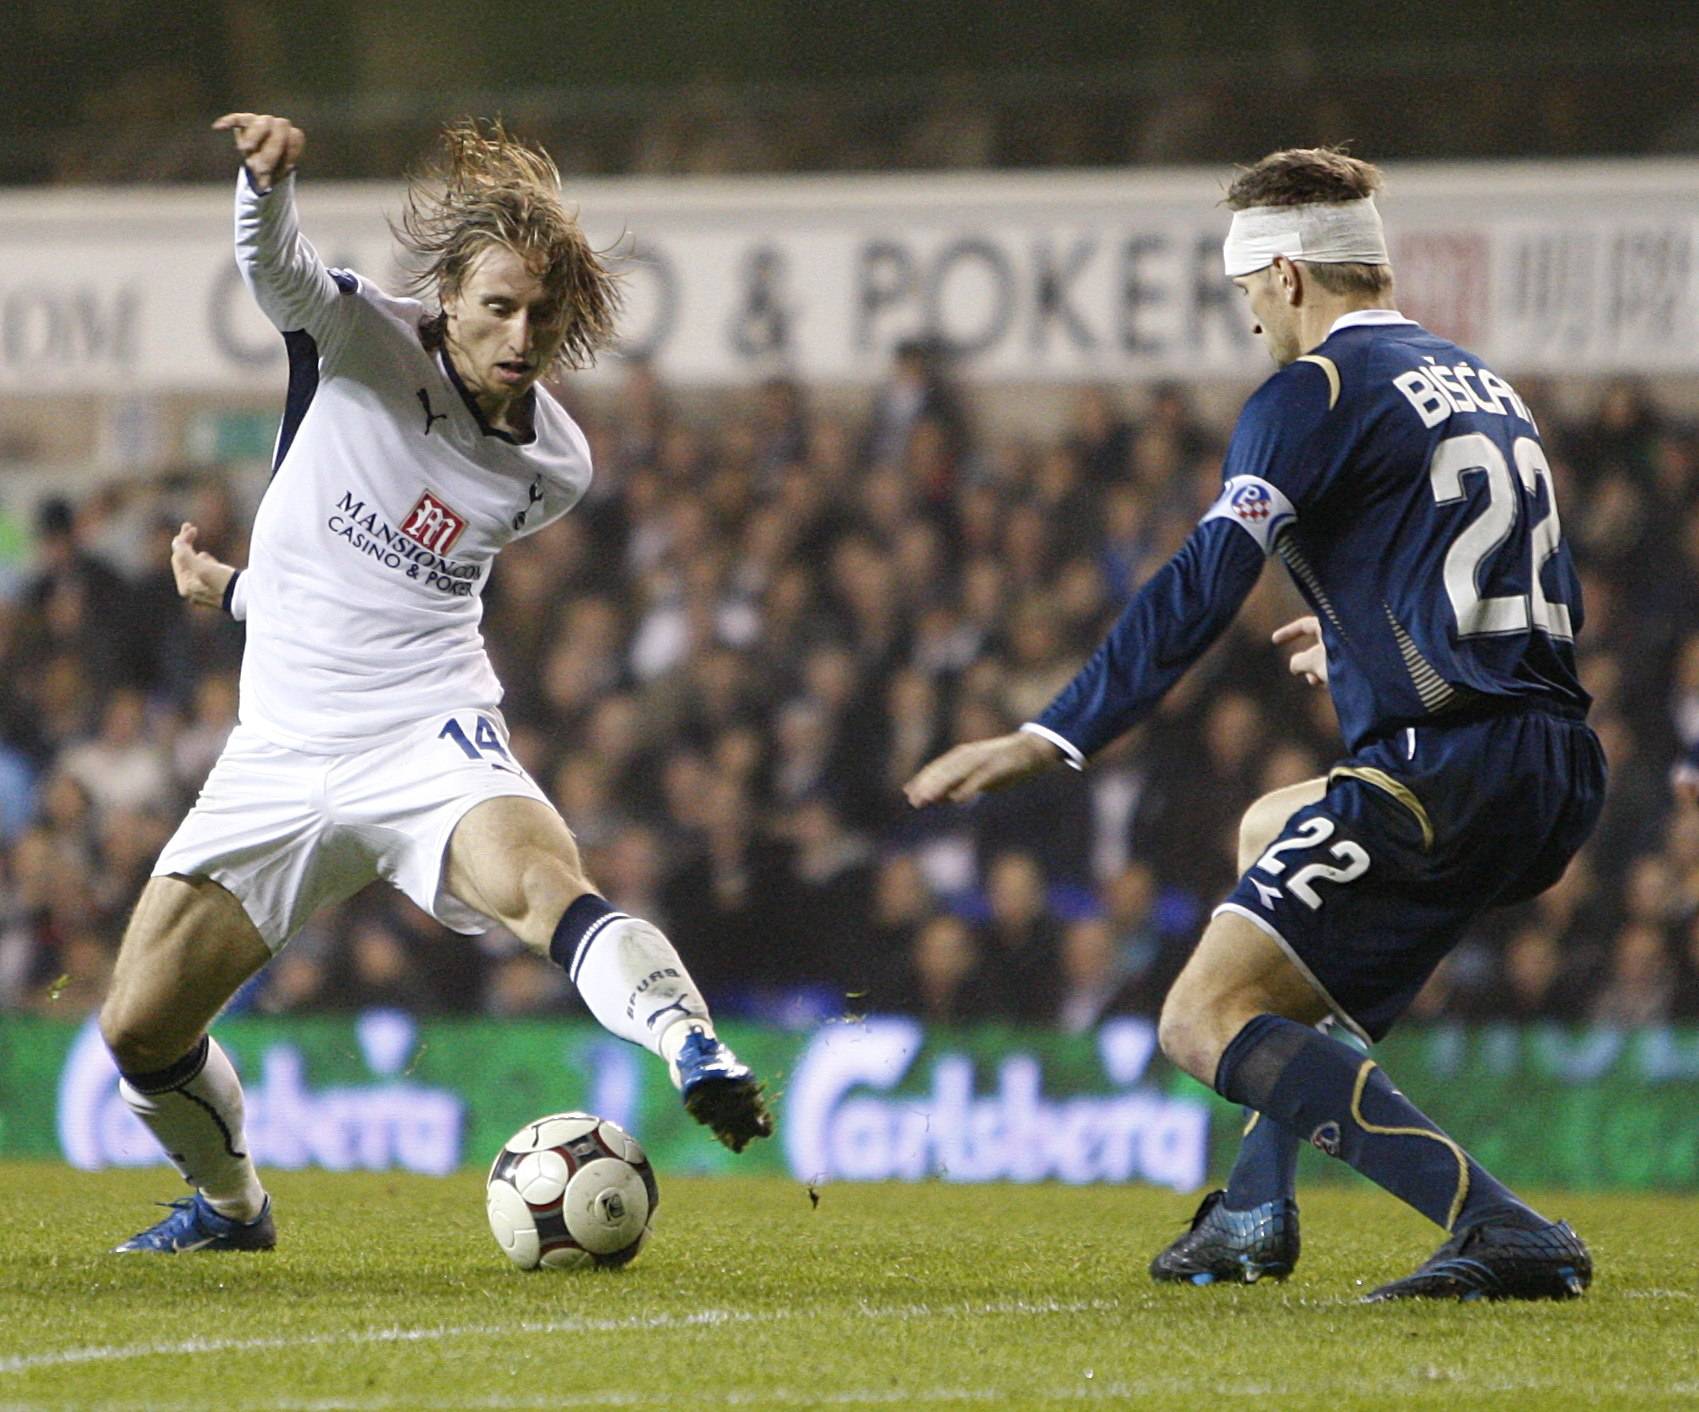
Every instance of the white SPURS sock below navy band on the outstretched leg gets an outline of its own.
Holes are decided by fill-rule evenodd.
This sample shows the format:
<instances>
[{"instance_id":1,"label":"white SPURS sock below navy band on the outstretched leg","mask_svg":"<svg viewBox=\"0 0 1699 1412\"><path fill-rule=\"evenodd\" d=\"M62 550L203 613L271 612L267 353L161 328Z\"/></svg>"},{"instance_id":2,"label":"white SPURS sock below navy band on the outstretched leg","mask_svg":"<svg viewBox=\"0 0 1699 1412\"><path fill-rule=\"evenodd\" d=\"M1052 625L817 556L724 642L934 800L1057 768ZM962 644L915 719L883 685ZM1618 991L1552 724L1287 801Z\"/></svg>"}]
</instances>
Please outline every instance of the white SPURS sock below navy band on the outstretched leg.
<instances>
[{"instance_id":1,"label":"white SPURS sock below navy band on the outstretched leg","mask_svg":"<svg viewBox=\"0 0 1699 1412\"><path fill-rule=\"evenodd\" d=\"M605 1030L668 1062L695 1025L714 1033L708 1008L673 943L639 918L615 912L586 936L573 975ZM673 1031L678 1033L673 1033Z\"/></svg>"}]
</instances>

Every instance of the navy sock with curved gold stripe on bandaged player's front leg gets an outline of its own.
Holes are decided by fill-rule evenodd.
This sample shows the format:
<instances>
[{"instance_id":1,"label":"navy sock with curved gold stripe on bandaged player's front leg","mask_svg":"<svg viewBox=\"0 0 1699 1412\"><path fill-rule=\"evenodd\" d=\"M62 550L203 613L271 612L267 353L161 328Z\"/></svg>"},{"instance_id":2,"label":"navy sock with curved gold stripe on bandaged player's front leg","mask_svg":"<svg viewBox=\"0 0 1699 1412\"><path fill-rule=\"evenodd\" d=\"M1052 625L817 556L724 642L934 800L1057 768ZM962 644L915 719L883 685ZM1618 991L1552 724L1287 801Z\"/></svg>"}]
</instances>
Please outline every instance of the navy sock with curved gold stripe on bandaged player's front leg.
<instances>
[{"instance_id":1,"label":"navy sock with curved gold stripe on bandaged player's front leg","mask_svg":"<svg viewBox=\"0 0 1699 1412\"><path fill-rule=\"evenodd\" d=\"M1308 1025L1256 1016L1222 1052L1215 1089L1349 1162L1446 1230L1507 1213L1534 1217L1373 1059Z\"/></svg>"}]
</instances>

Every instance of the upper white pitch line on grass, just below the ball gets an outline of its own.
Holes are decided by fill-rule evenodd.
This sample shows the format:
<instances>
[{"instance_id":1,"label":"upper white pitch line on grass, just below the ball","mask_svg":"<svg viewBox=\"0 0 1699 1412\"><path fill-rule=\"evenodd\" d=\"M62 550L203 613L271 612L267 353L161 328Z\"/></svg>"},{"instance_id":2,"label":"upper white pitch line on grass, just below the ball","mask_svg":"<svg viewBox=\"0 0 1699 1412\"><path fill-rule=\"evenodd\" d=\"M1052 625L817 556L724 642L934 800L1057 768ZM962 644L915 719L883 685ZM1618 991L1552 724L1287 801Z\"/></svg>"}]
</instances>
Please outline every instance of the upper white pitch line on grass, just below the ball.
<instances>
[{"instance_id":1,"label":"upper white pitch line on grass, just below the ball","mask_svg":"<svg viewBox=\"0 0 1699 1412\"><path fill-rule=\"evenodd\" d=\"M1116 1300L999 1300L979 1305L861 1305L858 1319L996 1319L999 1315L1094 1313L1118 1308ZM200 1353L275 1353L279 1349L319 1347L323 1344L415 1344L438 1339L491 1339L511 1334L615 1334L629 1329L698 1329L722 1324L775 1324L797 1319L799 1310L708 1308L698 1313L652 1313L629 1319L550 1319L520 1324L450 1324L425 1329L353 1329L347 1332L294 1334L265 1339L180 1339L170 1344L93 1344L0 1358L0 1375L29 1373L36 1368L66 1368L78 1363L121 1363L134 1358L183 1358Z\"/></svg>"}]
</instances>

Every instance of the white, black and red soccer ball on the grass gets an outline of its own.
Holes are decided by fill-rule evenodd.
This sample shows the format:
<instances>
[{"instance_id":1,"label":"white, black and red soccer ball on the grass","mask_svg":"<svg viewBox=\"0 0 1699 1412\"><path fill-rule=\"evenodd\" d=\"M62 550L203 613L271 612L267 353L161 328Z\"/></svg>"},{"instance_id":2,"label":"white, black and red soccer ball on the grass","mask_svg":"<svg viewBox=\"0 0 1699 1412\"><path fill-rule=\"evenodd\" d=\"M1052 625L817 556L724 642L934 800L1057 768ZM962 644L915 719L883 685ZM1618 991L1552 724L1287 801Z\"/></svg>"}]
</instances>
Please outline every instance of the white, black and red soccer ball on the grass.
<instances>
[{"instance_id":1,"label":"white, black and red soccer ball on the grass","mask_svg":"<svg viewBox=\"0 0 1699 1412\"><path fill-rule=\"evenodd\" d=\"M625 1264L661 1189L637 1140L595 1113L554 1113L506 1140L484 1183L489 1230L520 1269Z\"/></svg>"}]
</instances>

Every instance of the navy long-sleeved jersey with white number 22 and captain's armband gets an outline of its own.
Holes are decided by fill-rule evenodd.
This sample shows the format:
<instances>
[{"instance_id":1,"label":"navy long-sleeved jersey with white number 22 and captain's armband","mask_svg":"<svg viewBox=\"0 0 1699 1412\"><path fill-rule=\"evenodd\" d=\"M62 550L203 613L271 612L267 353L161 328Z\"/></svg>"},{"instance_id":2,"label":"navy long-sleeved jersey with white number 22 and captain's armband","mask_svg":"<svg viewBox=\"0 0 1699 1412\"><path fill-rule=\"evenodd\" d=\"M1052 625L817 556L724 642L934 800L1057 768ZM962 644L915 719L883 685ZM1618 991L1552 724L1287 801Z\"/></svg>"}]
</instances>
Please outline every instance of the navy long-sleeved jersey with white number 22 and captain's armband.
<instances>
[{"instance_id":1,"label":"navy long-sleeved jersey with white number 22 and captain's armband","mask_svg":"<svg viewBox=\"0 0 1699 1412\"><path fill-rule=\"evenodd\" d=\"M1580 586L1539 430L1456 343L1347 314L1245 403L1181 552L1033 726L1081 760L1132 726L1278 556L1315 608L1351 749L1448 712L1585 712Z\"/></svg>"}]
</instances>

